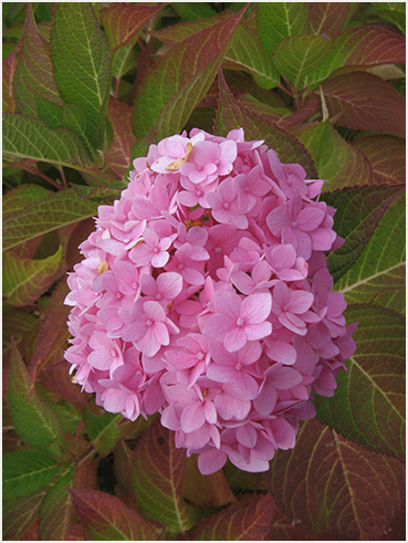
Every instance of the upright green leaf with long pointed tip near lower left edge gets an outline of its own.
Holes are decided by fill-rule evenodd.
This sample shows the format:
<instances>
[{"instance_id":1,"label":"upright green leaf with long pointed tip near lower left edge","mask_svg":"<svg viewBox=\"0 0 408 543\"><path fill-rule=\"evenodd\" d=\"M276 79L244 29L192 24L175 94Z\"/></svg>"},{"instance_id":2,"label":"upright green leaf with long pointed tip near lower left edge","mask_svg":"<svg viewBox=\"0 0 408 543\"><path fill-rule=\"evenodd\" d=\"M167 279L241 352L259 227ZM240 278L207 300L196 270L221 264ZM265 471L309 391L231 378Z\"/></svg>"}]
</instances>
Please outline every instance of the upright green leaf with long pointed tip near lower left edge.
<instances>
[{"instance_id":1,"label":"upright green leaf with long pointed tip near lower left edge","mask_svg":"<svg viewBox=\"0 0 408 543\"><path fill-rule=\"evenodd\" d=\"M42 451L52 449L59 455L57 442L62 435L56 415L36 389L31 389L29 372L13 342L10 362L9 407L15 431L27 445Z\"/></svg>"}]
</instances>

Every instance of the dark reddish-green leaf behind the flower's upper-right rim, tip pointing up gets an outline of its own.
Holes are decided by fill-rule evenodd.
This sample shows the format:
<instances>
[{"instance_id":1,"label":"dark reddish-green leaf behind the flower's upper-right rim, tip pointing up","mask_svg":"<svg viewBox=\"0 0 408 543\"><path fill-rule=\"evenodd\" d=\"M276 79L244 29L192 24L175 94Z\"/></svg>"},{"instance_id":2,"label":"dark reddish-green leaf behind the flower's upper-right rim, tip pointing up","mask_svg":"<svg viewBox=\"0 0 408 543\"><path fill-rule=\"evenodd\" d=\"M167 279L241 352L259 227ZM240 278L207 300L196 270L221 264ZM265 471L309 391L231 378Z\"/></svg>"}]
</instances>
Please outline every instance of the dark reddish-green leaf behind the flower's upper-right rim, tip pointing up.
<instances>
[{"instance_id":1,"label":"dark reddish-green leaf behind the flower's upper-right rim, tip pointing up","mask_svg":"<svg viewBox=\"0 0 408 543\"><path fill-rule=\"evenodd\" d=\"M268 147L274 149L282 163L297 163L306 170L310 178L317 177L313 159L304 145L292 134L278 127L268 118L251 112L231 94L221 69L218 72L220 100L217 112L216 133L220 136L233 128L242 127L245 140L263 139Z\"/></svg>"}]
</instances>

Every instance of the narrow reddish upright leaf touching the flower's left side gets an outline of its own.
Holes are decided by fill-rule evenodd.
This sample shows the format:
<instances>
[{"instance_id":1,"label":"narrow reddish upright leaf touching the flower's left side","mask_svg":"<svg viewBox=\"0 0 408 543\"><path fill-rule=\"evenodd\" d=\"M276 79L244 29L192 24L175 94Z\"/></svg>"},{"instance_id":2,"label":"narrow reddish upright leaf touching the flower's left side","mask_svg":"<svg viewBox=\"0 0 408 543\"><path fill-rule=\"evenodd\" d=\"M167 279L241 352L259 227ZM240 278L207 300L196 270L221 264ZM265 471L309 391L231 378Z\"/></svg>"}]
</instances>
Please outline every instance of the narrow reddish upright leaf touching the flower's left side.
<instances>
[{"instance_id":1,"label":"narrow reddish upright leaf touching the flower's left side","mask_svg":"<svg viewBox=\"0 0 408 543\"><path fill-rule=\"evenodd\" d=\"M32 386L34 386L40 369L44 367L55 349L61 346L66 348L69 338L66 319L70 309L63 302L67 293L69 288L65 278L63 278L50 297L36 340L35 351L31 358L29 369Z\"/></svg>"}]
</instances>

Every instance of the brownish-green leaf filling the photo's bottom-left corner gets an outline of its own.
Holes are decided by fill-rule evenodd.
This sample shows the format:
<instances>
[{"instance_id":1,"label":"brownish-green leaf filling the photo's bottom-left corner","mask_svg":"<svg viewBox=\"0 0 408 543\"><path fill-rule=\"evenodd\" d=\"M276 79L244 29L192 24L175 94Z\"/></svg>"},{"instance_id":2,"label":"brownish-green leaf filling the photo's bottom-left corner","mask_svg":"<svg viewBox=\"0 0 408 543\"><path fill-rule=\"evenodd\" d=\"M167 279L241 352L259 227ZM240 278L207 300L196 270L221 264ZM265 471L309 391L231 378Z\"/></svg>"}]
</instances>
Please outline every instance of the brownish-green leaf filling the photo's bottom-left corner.
<instances>
[{"instance_id":1,"label":"brownish-green leaf filling the photo's bottom-left corner","mask_svg":"<svg viewBox=\"0 0 408 543\"><path fill-rule=\"evenodd\" d=\"M41 502L50 484L29 495L21 495L10 500L3 499L2 536L4 541L22 541L22 535L38 516Z\"/></svg>"}]
</instances>

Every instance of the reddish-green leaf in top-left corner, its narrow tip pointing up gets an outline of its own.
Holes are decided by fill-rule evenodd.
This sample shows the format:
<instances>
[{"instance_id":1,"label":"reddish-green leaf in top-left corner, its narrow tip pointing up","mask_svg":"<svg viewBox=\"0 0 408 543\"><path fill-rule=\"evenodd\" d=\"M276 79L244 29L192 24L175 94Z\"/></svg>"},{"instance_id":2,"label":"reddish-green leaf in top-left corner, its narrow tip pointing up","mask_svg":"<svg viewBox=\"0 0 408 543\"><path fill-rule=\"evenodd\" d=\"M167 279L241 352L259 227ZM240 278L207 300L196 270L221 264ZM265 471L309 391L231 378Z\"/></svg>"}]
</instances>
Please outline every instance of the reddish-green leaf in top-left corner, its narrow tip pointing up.
<instances>
[{"instance_id":1,"label":"reddish-green leaf in top-left corner, its narrow tip pointing up","mask_svg":"<svg viewBox=\"0 0 408 543\"><path fill-rule=\"evenodd\" d=\"M21 113L36 115L35 95L62 105L52 73L50 44L38 31L32 7L28 4L14 75L14 96Z\"/></svg>"}]
</instances>

